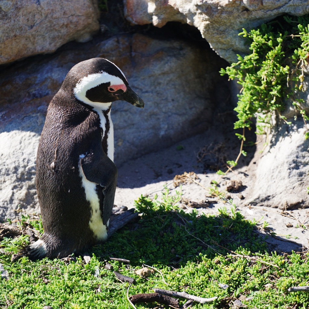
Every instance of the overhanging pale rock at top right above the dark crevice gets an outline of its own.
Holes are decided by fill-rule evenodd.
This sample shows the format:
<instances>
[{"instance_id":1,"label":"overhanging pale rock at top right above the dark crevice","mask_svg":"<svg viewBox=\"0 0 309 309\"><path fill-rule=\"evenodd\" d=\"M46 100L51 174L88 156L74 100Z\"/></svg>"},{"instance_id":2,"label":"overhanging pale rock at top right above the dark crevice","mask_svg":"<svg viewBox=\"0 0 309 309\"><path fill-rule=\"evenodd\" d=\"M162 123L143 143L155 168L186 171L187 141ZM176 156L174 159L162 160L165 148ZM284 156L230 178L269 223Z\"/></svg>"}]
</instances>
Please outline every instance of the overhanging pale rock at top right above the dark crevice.
<instances>
[{"instance_id":1,"label":"overhanging pale rock at top right above the dark crevice","mask_svg":"<svg viewBox=\"0 0 309 309\"><path fill-rule=\"evenodd\" d=\"M125 0L125 16L131 23L153 23L157 27L169 21L188 23L198 28L210 46L229 62L247 51L245 40L238 36L242 28L250 30L284 13L307 14L308 1Z\"/></svg>"}]
</instances>

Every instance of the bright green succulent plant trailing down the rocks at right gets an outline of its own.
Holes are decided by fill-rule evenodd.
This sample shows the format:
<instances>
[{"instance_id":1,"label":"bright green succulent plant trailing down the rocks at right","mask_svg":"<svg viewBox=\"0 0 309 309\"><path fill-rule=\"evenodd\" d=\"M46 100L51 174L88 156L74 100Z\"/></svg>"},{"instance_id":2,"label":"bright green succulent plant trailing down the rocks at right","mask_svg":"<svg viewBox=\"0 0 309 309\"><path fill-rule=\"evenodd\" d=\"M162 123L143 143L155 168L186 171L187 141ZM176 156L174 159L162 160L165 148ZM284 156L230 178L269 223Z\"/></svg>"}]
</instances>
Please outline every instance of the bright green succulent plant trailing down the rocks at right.
<instances>
[{"instance_id":1,"label":"bright green succulent plant trailing down the rocks at right","mask_svg":"<svg viewBox=\"0 0 309 309\"><path fill-rule=\"evenodd\" d=\"M268 134L273 126L273 115L291 124L281 115L287 99L295 108L295 120L301 115L305 124L308 121L305 102L299 96L309 59L308 24L308 15L283 16L250 32L243 29L239 33L250 45L250 53L243 57L237 55L237 62L220 71L241 86L235 108L238 120L234 124L234 129L241 131L236 133L241 146L237 159L227 161L228 171L237 165L241 155L246 156L245 129L251 130L255 125L257 134ZM308 130L305 138L309 138Z\"/></svg>"}]
</instances>

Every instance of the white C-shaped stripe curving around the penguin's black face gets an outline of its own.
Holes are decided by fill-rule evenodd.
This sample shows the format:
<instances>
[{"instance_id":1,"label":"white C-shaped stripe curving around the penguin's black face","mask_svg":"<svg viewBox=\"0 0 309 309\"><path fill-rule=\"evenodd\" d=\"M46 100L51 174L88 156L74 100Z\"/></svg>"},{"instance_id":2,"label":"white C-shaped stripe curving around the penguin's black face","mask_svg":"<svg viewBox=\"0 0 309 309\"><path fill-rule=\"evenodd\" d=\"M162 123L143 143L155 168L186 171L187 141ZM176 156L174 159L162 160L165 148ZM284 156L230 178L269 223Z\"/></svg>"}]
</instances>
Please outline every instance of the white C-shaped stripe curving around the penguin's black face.
<instances>
[{"instance_id":1,"label":"white C-shaped stripe curving around the penguin's black face","mask_svg":"<svg viewBox=\"0 0 309 309\"><path fill-rule=\"evenodd\" d=\"M122 73L122 72L121 72ZM73 92L76 99L101 110L107 110L111 103L92 102L86 97L87 90L99 86L103 83L111 83L111 85L122 85L121 78L110 75L106 72L89 74L83 77L74 87Z\"/></svg>"}]
</instances>

